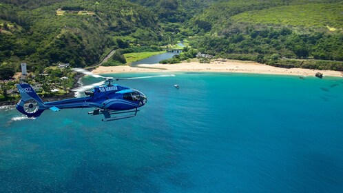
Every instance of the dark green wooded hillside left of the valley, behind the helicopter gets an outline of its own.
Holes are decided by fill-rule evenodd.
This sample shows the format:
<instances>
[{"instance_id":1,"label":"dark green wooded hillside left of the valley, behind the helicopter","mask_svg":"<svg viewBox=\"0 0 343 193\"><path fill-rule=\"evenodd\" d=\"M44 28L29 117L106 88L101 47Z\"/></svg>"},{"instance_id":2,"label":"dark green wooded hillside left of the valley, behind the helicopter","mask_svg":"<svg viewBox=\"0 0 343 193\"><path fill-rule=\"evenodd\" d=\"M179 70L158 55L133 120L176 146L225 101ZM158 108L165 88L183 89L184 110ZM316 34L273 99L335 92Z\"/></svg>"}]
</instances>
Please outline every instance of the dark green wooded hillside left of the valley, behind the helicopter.
<instances>
[{"instance_id":1,"label":"dark green wooded hillside left of the valley, behind the helicopter","mask_svg":"<svg viewBox=\"0 0 343 193\"><path fill-rule=\"evenodd\" d=\"M34 9L27 9L26 1L0 4L1 63L28 61L41 69L59 62L83 67L98 62L106 49L118 46L118 39L140 45L163 41L155 15L137 4L48 2L52 5Z\"/></svg>"}]
</instances>

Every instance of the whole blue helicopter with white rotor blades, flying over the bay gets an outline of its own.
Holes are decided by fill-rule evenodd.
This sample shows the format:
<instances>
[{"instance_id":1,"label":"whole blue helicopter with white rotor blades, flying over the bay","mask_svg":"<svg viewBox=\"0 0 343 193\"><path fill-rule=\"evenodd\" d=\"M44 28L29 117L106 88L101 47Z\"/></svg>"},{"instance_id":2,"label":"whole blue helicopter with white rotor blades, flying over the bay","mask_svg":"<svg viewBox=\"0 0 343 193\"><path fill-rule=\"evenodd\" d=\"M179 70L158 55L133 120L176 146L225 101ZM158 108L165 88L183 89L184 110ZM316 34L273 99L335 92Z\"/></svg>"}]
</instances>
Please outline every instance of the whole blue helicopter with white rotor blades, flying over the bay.
<instances>
[{"instance_id":1,"label":"whole blue helicopter with white rotor blades, flying over the bay","mask_svg":"<svg viewBox=\"0 0 343 193\"><path fill-rule=\"evenodd\" d=\"M72 70L105 80L73 90L76 92L85 92L85 95L87 95L85 97L46 103L41 100L31 85L25 83L17 84L19 94L21 95L21 99L16 105L17 110L28 117L36 118L40 116L44 110L48 109L57 112L65 108L95 108L95 110L88 112L88 114L103 114L104 119L102 119L102 121L126 119L136 116L139 111L137 108L140 108L147 103L147 96L138 90L118 84L112 84L113 81L154 77L175 77L174 74L162 74L147 77L114 79L114 77L103 77L98 74L93 74L82 68L74 68ZM92 88L92 92L87 91Z\"/></svg>"}]
</instances>

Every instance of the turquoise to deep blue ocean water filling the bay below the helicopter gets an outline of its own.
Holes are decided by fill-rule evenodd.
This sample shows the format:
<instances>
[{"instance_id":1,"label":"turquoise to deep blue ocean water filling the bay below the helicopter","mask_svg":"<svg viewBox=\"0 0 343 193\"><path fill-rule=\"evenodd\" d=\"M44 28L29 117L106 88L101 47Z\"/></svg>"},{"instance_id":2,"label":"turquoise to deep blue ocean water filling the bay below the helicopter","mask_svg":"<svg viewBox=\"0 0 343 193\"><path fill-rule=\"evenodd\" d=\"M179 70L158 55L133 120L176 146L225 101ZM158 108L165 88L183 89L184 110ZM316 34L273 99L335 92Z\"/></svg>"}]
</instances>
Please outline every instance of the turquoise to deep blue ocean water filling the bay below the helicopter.
<instances>
[{"instance_id":1,"label":"turquoise to deep blue ocean water filling the bay below the helicopter","mask_svg":"<svg viewBox=\"0 0 343 193\"><path fill-rule=\"evenodd\" d=\"M132 119L0 110L0 192L342 192L342 78L176 75L120 82Z\"/></svg>"}]
</instances>

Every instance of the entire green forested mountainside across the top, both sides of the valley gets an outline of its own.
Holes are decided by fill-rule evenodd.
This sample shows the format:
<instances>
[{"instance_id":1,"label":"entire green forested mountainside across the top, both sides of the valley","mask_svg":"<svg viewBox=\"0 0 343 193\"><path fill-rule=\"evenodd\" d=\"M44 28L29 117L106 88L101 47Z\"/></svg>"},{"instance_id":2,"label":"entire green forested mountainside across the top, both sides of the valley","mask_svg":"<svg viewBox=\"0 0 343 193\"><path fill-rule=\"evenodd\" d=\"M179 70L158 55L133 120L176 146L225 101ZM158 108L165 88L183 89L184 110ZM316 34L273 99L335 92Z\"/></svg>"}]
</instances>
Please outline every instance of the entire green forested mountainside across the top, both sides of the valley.
<instances>
[{"instance_id":1,"label":"entire green forested mountainside across the top, both sides of the valley","mask_svg":"<svg viewBox=\"0 0 343 193\"><path fill-rule=\"evenodd\" d=\"M0 2L0 63L17 70L23 61L40 72L57 63L84 67L114 48L182 39L217 57L343 70L338 0Z\"/></svg>"}]
</instances>

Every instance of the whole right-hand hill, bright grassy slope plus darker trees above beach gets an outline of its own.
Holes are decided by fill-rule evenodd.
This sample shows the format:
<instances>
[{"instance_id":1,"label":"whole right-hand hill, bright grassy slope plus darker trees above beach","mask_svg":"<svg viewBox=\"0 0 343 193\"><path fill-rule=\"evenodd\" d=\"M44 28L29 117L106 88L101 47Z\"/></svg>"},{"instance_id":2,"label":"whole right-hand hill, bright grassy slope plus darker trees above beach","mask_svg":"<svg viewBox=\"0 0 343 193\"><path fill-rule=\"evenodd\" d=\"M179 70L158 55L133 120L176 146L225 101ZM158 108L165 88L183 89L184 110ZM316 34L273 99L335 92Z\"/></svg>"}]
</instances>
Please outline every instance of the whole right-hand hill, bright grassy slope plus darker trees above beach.
<instances>
[{"instance_id":1,"label":"whole right-hand hill, bright grassy slope plus darker trees above beach","mask_svg":"<svg viewBox=\"0 0 343 193\"><path fill-rule=\"evenodd\" d=\"M191 45L218 57L343 70L337 62L343 61L342 10L340 1L214 3L189 20L189 29L198 35Z\"/></svg>"}]
</instances>

